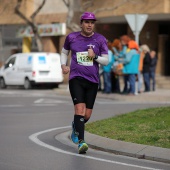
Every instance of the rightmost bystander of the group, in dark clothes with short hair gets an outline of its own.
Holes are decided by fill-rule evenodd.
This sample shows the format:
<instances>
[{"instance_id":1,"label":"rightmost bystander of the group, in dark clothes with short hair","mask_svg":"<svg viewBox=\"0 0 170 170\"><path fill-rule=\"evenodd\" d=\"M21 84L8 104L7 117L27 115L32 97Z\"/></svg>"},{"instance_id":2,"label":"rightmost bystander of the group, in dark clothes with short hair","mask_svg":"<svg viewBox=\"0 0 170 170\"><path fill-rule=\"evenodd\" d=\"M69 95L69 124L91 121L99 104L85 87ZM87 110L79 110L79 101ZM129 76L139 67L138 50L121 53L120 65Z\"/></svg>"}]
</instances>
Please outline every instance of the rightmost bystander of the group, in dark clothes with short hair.
<instances>
[{"instance_id":1,"label":"rightmost bystander of the group, in dark clothes with short hair","mask_svg":"<svg viewBox=\"0 0 170 170\"><path fill-rule=\"evenodd\" d=\"M156 85L156 81L155 81L155 71L156 71L156 65L157 65L157 60L158 57L156 55L156 51L152 50L150 52L150 57L151 57L151 65L150 65L150 80L152 81L152 91L155 91L155 85ZM151 88L150 88L151 89Z\"/></svg>"}]
</instances>

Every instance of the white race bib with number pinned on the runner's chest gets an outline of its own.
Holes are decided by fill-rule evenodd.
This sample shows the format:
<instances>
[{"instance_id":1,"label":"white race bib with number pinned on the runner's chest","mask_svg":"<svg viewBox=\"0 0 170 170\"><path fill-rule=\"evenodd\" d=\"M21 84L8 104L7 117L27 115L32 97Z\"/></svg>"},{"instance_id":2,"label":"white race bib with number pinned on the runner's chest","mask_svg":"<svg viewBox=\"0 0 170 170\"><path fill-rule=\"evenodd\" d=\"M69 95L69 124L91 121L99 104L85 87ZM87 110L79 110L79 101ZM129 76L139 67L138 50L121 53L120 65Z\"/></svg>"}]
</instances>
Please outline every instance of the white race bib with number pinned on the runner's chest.
<instances>
[{"instance_id":1,"label":"white race bib with number pinned on the runner's chest","mask_svg":"<svg viewBox=\"0 0 170 170\"><path fill-rule=\"evenodd\" d=\"M88 52L77 52L77 63L83 66L92 66L93 65L93 58L88 56Z\"/></svg>"}]
</instances>

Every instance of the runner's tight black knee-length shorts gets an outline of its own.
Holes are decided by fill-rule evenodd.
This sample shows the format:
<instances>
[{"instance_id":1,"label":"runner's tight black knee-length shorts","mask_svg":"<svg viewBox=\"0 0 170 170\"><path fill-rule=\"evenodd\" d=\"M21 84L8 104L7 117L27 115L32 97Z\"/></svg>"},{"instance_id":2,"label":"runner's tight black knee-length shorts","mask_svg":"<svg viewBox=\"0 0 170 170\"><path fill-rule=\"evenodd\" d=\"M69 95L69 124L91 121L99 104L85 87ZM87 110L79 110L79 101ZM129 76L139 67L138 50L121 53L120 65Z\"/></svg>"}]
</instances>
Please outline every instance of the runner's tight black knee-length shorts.
<instances>
[{"instance_id":1,"label":"runner's tight black knee-length shorts","mask_svg":"<svg viewBox=\"0 0 170 170\"><path fill-rule=\"evenodd\" d=\"M74 105L85 103L86 108L93 109L98 83L90 82L82 77L76 77L69 81L69 89Z\"/></svg>"}]
</instances>

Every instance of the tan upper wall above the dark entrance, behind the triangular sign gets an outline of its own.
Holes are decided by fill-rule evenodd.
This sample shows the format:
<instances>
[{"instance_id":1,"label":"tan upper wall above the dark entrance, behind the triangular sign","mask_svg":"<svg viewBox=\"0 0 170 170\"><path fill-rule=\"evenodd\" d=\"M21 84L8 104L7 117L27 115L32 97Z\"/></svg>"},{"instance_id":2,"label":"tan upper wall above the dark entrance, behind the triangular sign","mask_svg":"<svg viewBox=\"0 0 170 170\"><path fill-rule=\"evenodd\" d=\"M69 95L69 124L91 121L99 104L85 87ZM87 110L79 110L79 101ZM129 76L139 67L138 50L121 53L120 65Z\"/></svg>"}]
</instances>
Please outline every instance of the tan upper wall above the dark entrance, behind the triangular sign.
<instances>
[{"instance_id":1,"label":"tan upper wall above the dark entrance, behind the triangular sign","mask_svg":"<svg viewBox=\"0 0 170 170\"><path fill-rule=\"evenodd\" d=\"M85 0L84 0L85 2ZM123 3L122 3L123 2ZM94 5L90 7L89 11L95 11L96 9L107 8L110 10L102 10L97 12L98 17L106 16L120 16L130 13L167 13L170 12L169 0L133 0L133 1L120 1L120 0L94 0ZM111 8L114 10L111 10ZM117 8L118 7L118 8ZM132 10L133 9L133 10Z\"/></svg>"}]
</instances>

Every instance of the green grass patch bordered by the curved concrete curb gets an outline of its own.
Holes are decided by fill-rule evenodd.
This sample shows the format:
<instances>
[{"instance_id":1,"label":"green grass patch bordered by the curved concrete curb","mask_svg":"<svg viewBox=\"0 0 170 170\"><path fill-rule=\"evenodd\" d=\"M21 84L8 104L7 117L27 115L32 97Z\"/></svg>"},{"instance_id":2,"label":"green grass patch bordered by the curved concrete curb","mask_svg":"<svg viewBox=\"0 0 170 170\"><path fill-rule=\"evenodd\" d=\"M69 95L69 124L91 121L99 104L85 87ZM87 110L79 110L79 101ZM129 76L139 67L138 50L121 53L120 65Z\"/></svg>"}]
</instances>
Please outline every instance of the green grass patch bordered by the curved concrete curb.
<instances>
[{"instance_id":1,"label":"green grass patch bordered by the curved concrete curb","mask_svg":"<svg viewBox=\"0 0 170 170\"><path fill-rule=\"evenodd\" d=\"M86 131L125 142L170 148L170 107L137 110L88 123Z\"/></svg>"}]
</instances>

